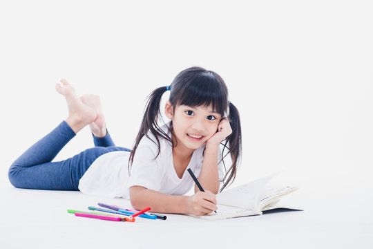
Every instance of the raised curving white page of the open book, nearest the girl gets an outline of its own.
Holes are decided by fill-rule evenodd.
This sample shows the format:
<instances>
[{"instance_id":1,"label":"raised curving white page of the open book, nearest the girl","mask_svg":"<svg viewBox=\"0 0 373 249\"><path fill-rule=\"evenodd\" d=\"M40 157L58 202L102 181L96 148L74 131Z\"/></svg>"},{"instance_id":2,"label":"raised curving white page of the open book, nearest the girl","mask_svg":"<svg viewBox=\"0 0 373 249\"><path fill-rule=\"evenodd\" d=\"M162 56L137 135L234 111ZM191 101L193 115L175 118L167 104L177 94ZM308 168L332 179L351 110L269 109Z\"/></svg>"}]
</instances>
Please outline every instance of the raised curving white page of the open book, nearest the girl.
<instances>
[{"instance_id":1,"label":"raised curving white page of the open book, nearest the girl","mask_svg":"<svg viewBox=\"0 0 373 249\"><path fill-rule=\"evenodd\" d=\"M216 194L216 201L222 205L229 205L245 210L259 210L258 204L260 193L267 182L276 174L278 173L265 176L256 181Z\"/></svg>"}]
</instances>

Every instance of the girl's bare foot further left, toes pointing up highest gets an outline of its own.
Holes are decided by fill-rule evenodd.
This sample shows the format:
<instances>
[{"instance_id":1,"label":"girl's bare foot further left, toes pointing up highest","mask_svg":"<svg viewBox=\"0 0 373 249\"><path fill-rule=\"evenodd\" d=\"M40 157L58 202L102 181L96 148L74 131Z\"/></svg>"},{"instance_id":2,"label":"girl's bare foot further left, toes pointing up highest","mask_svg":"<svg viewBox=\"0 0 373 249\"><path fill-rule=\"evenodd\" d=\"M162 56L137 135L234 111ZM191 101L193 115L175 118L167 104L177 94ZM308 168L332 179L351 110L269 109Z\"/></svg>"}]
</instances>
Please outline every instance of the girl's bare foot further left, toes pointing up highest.
<instances>
[{"instance_id":1,"label":"girl's bare foot further left, toes pointing up highest","mask_svg":"<svg viewBox=\"0 0 373 249\"><path fill-rule=\"evenodd\" d=\"M62 84L56 84L57 92L64 95L68 105L68 118L66 122L75 133L86 127L87 124L95 121L97 118L97 113L92 107L88 107L77 98L75 89L73 86L68 84L66 80L61 80Z\"/></svg>"}]
</instances>

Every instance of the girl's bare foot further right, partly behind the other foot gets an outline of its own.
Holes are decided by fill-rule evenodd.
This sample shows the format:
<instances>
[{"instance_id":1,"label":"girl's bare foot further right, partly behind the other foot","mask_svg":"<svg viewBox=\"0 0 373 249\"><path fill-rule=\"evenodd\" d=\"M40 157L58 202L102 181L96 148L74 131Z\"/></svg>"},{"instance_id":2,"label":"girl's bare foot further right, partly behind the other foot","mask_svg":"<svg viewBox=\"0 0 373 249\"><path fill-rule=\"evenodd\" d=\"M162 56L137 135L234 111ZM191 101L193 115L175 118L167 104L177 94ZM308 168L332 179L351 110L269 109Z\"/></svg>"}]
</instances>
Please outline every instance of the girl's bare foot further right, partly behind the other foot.
<instances>
[{"instance_id":1,"label":"girl's bare foot further right, partly behind the other foot","mask_svg":"<svg viewBox=\"0 0 373 249\"><path fill-rule=\"evenodd\" d=\"M95 121L89 124L90 131L97 138L104 138L106 136L106 122L104 111L102 110L101 100L97 95L85 94L79 98L86 106L94 109L97 113Z\"/></svg>"}]
</instances>

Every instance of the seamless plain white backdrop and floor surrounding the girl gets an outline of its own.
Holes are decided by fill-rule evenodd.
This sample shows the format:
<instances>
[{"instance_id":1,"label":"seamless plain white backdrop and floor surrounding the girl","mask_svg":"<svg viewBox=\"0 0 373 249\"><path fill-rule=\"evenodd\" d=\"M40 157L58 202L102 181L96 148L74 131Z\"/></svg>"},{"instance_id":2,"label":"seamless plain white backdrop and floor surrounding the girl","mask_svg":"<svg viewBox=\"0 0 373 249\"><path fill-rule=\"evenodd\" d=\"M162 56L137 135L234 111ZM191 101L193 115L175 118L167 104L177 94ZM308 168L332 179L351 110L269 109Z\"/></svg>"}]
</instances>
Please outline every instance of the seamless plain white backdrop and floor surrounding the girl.
<instances>
[{"instance_id":1,"label":"seamless plain white backdrop and floor surrounding the girl","mask_svg":"<svg viewBox=\"0 0 373 249\"><path fill-rule=\"evenodd\" d=\"M0 249L373 248L373 1L176 2L0 1ZM305 211L115 223L66 210L128 201L10 186L12 162L67 117L59 79L100 95L131 147L146 97L189 66L219 73L240 110L236 183L286 171ZM87 127L55 160L92 146Z\"/></svg>"}]
</instances>

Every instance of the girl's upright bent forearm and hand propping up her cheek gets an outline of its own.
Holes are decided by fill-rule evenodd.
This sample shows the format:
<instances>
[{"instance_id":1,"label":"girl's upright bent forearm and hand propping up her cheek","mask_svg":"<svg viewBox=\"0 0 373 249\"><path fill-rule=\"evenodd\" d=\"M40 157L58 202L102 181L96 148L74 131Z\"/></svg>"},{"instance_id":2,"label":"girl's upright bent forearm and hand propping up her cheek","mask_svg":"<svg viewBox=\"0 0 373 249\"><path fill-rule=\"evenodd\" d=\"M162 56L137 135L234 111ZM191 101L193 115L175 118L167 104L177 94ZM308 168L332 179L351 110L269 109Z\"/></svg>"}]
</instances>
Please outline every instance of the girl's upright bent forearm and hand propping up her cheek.
<instances>
[{"instance_id":1,"label":"girl's upright bent forearm and hand propping up her cheek","mask_svg":"<svg viewBox=\"0 0 373 249\"><path fill-rule=\"evenodd\" d=\"M204 158L202 169L198 181L203 189L209 190L214 194L218 194L220 187L220 179L218 174L218 149L220 142L227 138L232 133L231 125L227 118L223 118L219 125L218 131L206 142L206 150L204 151ZM200 191L197 185L194 186L194 192Z\"/></svg>"}]
</instances>

